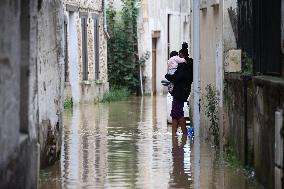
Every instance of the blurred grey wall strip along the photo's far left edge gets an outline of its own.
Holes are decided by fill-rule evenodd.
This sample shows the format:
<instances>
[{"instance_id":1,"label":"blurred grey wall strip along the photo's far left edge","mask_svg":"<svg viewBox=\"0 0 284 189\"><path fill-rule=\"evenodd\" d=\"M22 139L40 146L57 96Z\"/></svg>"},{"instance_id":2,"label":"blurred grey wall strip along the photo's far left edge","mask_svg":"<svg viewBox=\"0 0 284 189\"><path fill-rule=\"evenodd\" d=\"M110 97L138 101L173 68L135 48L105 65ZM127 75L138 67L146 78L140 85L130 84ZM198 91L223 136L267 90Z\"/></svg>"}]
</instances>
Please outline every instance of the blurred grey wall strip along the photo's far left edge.
<instances>
[{"instance_id":1,"label":"blurred grey wall strip along the photo's far left edge","mask_svg":"<svg viewBox=\"0 0 284 189\"><path fill-rule=\"evenodd\" d=\"M16 150L20 136L20 1L1 2L0 15L0 163L3 163Z\"/></svg>"}]
</instances>

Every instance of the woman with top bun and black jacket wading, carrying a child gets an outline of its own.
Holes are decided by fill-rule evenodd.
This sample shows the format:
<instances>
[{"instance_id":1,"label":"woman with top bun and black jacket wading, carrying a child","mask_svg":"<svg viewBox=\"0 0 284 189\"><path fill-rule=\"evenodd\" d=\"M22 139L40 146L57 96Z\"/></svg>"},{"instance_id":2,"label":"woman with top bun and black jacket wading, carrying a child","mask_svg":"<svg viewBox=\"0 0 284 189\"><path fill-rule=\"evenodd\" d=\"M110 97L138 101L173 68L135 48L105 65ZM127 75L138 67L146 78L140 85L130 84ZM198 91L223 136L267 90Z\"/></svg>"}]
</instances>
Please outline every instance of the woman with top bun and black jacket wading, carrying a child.
<instances>
[{"instance_id":1,"label":"woman with top bun and black jacket wading, carrying a child","mask_svg":"<svg viewBox=\"0 0 284 189\"><path fill-rule=\"evenodd\" d=\"M168 81L173 83L173 103L172 103L172 132L176 134L178 126L181 127L183 134L187 134L186 120L184 118L183 105L188 100L193 82L193 59L188 57L188 45L182 44L179 56L184 58L186 62L179 63L177 70L173 75L166 74Z\"/></svg>"}]
</instances>

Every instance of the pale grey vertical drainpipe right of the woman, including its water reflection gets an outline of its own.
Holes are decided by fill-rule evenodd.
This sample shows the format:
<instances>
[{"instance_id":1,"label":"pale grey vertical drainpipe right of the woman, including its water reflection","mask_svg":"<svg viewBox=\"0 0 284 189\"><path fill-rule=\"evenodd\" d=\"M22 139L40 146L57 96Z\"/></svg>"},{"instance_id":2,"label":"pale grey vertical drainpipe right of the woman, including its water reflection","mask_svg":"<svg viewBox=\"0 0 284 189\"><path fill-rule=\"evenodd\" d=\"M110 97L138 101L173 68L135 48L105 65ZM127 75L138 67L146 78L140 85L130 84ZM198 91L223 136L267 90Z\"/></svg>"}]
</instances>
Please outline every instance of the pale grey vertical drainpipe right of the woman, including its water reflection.
<instances>
[{"instance_id":1,"label":"pale grey vertical drainpipe right of the woman, including its water reflection","mask_svg":"<svg viewBox=\"0 0 284 189\"><path fill-rule=\"evenodd\" d=\"M194 188L200 188L200 112L199 112L199 62L200 62L200 0L192 0L193 30L193 124L194 124Z\"/></svg>"}]
</instances>

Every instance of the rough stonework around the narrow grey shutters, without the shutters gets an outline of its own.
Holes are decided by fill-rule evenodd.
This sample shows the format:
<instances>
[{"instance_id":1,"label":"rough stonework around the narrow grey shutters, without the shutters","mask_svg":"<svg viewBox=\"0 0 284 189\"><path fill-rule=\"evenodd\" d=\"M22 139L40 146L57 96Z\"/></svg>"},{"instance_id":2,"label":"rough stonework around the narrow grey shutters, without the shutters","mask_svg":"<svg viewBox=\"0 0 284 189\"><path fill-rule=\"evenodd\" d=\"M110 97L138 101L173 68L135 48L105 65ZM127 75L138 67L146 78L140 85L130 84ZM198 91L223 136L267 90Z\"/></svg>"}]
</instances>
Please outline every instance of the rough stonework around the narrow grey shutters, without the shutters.
<instances>
[{"instance_id":1,"label":"rough stonework around the narrow grey shutters, without the shutters","mask_svg":"<svg viewBox=\"0 0 284 189\"><path fill-rule=\"evenodd\" d=\"M94 102L109 90L108 73L107 73L107 38L103 30L103 13L102 1L78 1L78 0L65 0L64 5L66 8L65 15L67 15L67 44L68 44L68 70L69 82L65 83L65 98L75 96L79 98L78 102ZM75 11L72 12L72 19L75 19L76 33L71 33L69 24L71 19L71 12L67 6L73 6ZM80 13L87 15L87 60L88 60L88 80L83 81L83 60L82 60L82 26ZM95 78L95 38L94 38L94 18L93 15L98 15L99 21L99 78ZM73 20L72 20L73 22ZM77 50L72 49L71 41L76 40ZM72 56L76 53L77 59L73 60ZM70 64L77 63L78 66L71 68ZM71 69L70 69L71 68ZM73 77L73 78L71 78ZM75 78L75 79L74 79ZM75 98L74 98L75 99ZM75 100L75 103L78 103Z\"/></svg>"}]
</instances>

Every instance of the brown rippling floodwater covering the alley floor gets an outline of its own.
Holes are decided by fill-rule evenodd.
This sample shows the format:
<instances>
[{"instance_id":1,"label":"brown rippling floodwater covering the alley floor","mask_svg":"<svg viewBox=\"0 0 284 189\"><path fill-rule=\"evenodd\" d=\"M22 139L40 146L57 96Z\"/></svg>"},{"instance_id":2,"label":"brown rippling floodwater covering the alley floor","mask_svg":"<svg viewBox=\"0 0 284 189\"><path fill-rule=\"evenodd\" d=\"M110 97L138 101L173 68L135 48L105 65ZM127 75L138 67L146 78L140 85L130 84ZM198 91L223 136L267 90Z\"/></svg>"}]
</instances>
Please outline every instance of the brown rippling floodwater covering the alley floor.
<instances>
[{"instance_id":1,"label":"brown rippling floodwater covering the alley floor","mask_svg":"<svg viewBox=\"0 0 284 189\"><path fill-rule=\"evenodd\" d=\"M165 97L74 106L64 115L61 160L41 170L39 188L259 188L200 141L194 166L194 140L171 134Z\"/></svg>"}]
</instances>

